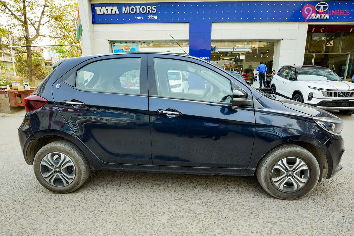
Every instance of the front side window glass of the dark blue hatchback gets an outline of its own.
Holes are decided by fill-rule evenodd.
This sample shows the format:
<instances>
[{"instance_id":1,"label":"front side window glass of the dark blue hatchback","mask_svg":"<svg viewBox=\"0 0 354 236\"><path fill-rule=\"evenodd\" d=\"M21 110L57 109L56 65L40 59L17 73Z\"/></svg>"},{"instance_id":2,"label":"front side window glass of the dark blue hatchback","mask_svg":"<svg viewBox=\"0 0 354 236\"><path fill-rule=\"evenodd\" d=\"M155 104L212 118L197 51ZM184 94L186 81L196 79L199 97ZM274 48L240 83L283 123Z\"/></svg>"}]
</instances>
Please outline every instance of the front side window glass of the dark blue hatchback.
<instances>
[{"instance_id":1,"label":"front side window glass of the dark blue hatchback","mask_svg":"<svg viewBox=\"0 0 354 236\"><path fill-rule=\"evenodd\" d=\"M155 58L158 96L210 102L231 102L231 83L201 65Z\"/></svg>"}]
</instances>

